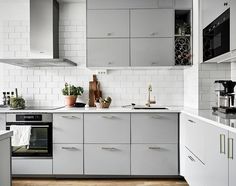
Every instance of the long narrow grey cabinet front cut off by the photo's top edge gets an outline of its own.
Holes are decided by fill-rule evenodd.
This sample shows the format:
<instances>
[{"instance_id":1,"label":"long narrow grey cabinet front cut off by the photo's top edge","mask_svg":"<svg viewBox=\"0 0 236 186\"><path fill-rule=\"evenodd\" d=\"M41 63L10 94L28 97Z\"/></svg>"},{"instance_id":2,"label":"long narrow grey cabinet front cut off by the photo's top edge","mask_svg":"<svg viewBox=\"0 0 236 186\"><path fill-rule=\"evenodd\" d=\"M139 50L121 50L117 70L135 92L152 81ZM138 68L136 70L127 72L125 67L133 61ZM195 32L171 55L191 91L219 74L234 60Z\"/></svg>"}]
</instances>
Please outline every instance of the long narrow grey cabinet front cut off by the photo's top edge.
<instances>
[{"instance_id":1,"label":"long narrow grey cabinet front cut off by the photo's top edge","mask_svg":"<svg viewBox=\"0 0 236 186\"><path fill-rule=\"evenodd\" d=\"M87 0L88 9L157 8L158 0Z\"/></svg>"}]
</instances>

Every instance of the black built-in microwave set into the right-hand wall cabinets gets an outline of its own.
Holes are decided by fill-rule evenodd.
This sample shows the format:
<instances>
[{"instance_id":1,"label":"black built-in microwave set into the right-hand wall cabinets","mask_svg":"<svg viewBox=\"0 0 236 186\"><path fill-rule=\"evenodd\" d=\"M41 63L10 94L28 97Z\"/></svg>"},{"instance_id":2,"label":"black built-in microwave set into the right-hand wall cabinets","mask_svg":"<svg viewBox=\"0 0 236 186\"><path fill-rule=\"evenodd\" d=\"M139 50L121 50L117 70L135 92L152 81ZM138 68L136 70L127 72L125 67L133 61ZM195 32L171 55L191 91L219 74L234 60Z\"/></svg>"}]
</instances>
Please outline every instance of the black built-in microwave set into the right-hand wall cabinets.
<instances>
[{"instance_id":1,"label":"black built-in microwave set into the right-hand wall cabinets","mask_svg":"<svg viewBox=\"0 0 236 186\"><path fill-rule=\"evenodd\" d=\"M203 30L203 62L230 51L230 8Z\"/></svg>"}]
</instances>

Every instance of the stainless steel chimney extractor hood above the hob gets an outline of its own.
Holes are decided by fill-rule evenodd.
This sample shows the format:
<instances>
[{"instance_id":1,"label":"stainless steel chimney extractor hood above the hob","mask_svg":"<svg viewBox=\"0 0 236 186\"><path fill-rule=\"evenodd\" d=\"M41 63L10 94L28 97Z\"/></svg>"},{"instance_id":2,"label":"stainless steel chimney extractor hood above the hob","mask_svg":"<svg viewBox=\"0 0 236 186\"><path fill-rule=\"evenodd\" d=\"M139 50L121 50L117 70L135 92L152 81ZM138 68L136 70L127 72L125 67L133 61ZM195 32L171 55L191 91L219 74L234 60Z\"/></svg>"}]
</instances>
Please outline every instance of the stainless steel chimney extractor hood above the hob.
<instances>
[{"instance_id":1,"label":"stainless steel chimney extractor hood above the hob","mask_svg":"<svg viewBox=\"0 0 236 186\"><path fill-rule=\"evenodd\" d=\"M59 3L56 0L30 0L30 55L27 58L0 59L20 67L77 66L59 58Z\"/></svg>"}]
</instances>

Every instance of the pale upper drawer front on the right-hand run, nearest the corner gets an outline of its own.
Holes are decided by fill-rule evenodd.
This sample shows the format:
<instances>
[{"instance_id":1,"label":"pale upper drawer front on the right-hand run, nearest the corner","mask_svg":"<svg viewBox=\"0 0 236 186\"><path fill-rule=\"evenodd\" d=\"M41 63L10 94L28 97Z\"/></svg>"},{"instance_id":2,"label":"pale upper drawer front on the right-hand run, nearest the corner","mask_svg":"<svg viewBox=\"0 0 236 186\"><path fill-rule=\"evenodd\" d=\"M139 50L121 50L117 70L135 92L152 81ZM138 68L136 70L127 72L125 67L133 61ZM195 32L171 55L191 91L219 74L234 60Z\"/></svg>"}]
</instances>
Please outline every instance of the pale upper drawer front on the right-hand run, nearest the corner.
<instances>
[{"instance_id":1,"label":"pale upper drawer front on the right-hand run, nearest the corner","mask_svg":"<svg viewBox=\"0 0 236 186\"><path fill-rule=\"evenodd\" d=\"M204 149L205 136L207 136L207 134L205 134L205 126L207 126L207 124L185 114L181 115L181 121L185 124L185 146L202 162L205 162Z\"/></svg>"}]
</instances>

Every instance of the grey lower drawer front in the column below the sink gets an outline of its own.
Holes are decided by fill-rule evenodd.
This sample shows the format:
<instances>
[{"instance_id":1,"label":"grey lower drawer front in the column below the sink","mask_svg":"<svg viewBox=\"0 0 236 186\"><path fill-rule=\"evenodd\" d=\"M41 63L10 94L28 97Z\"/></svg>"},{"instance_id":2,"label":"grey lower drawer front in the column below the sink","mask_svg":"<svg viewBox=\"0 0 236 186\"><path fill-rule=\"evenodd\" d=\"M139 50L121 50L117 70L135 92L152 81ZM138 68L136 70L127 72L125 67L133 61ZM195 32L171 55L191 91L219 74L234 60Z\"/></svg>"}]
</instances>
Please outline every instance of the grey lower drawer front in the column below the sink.
<instances>
[{"instance_id":1,"label":"grey lower drawer front in the column below the sink","mask_svg":"<svg viewBox=\"0 0 236 186\"><path fill-rule=\"evenodd\" d=\"M131 175L178 175L178 145L132 144Z\"/></svg>"}]
</instances>

